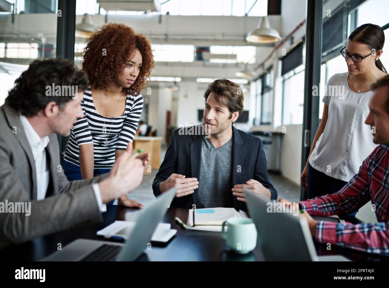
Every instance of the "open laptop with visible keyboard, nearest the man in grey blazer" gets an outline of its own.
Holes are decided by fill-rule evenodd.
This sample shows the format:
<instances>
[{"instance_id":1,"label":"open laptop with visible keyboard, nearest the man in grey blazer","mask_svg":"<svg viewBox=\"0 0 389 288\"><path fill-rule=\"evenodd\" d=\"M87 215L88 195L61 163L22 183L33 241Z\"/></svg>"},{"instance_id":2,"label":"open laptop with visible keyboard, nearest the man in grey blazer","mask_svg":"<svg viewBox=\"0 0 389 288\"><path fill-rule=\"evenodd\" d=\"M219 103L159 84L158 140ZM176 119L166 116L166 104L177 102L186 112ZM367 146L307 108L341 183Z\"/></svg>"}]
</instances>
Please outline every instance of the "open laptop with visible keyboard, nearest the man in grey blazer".
<instances>
[{"instance_id":1,"label":"open laptop with visible keyboard, nearest the man in grey blazer","mask_svg":"<svg viewBox=\"0 0 389 288\"><path fill-rule=\"evenodd\" d=\"M134 261L147 248L163 215L170 206L176 188L159 195L157 200L141 211L137 224L126 243L77 239L42 261Z\"/></svg>"}]
</instances>

